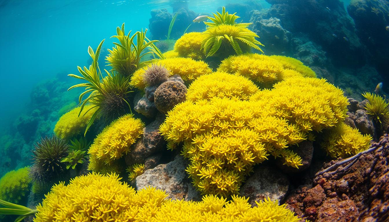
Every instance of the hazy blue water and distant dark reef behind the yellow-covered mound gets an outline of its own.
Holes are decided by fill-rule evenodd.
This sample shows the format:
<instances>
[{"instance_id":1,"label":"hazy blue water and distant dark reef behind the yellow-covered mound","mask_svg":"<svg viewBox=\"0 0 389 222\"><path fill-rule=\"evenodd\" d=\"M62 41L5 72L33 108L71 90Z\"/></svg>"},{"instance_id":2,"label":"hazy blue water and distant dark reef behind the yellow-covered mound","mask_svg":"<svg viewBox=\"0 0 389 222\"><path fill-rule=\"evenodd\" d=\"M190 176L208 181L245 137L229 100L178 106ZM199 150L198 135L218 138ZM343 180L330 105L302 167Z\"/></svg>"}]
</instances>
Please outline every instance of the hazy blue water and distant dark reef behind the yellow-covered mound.
<instances>
[{"instance_id":1,"label":"hazy blue water and distant dark reef behind the yellow-covered mound","mask_svg":"<svg viewBox=\"0 0 389 222\"><path fill-rule=\"evenodd\" d=\"M201 31L204 24L192 20L224 5L228 11L237 12L243 22L253 23L250 28L261 37L265 54L300 59L319 77L358 100L362 92L373 91L378 82L384 82L384 91L388 91L383 53L388 43L382 43L389 38L389 31L385 32L387 7L375 13L372 22L377 27L366 30L362 21L371 14L357 13L364 5L340 0L291 2L0 2L0 25L7 33L0 41L0 99L4 104L0 109L0 177L30 164L33 145L42 136L52 135L58 118L78 102L80 91L67 92L74 84L67 74L77 73L75 64L90 63L86 49L97 45L102 37L106 42L99 63L104 64L106 49L113 46L109 38L112 27L123 22L129 30L149 28L149 38L163 40L177 12L171 35L176 39L189 24L188 31ZM380 4L377 0L367 2L373 4L370 8ZM378 32L380 28L384 31Z\"/></svg>"}]
</instances>

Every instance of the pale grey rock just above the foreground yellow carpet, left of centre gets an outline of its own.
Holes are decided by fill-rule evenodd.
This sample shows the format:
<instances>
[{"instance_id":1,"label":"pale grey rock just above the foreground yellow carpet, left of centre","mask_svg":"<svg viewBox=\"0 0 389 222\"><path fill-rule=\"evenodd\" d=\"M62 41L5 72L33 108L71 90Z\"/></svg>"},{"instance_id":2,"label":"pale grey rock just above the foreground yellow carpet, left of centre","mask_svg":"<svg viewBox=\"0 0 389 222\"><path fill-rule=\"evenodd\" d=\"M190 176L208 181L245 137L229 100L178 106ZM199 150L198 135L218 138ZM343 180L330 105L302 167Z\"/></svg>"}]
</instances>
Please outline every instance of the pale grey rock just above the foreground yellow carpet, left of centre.
<instances>
[{"instance_id":1,"label":"pale grey rock just above the foreground yellow carpet, left of centre","mask_svg":"<svg viewBox=\"0 0 389 222\"><path fill-rule=\"evenodd\" d=\"M165 191L167 198L201 200L200 193L195 190L185 171L188 164L184 157L177 155L170 163L146 170L136 178L137 190L152 186Z\"/></svg>"}]
</instances>

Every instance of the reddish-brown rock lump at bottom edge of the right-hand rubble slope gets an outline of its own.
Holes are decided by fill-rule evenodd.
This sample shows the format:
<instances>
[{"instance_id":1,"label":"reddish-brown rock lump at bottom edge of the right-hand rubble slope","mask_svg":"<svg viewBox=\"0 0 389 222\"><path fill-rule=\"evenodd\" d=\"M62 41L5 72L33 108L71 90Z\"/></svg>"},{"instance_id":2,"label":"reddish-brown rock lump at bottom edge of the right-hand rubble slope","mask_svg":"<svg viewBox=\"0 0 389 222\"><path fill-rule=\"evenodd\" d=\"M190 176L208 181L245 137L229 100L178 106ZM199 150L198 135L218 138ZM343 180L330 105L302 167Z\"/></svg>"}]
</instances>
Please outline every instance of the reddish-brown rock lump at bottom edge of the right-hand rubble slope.
<instances>
[{"instance_id":1,"label":"reddish-brown rock lump at bottom edge of the right-hand rubble slope","mask_svg":"<svg viewBox=\"0 0 389 222\"><path fill-rule=\"evenodd\" d=\"M357 221L358 216L358 209L352 200L339 201L337 198L332 198L324 201L317 210L316 222L354 222Z\"/></svg>"}]
</instances>

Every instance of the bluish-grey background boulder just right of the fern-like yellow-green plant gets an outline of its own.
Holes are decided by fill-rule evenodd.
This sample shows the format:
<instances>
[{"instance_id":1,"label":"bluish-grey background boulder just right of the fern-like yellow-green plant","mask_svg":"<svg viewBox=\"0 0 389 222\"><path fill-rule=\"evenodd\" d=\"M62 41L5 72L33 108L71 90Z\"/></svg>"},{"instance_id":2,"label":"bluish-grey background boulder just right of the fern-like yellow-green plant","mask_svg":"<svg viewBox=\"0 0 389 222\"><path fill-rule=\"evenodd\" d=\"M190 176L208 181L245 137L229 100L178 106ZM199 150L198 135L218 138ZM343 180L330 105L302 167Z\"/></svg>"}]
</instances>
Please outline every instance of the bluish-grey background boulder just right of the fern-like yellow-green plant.
<instances>
[{"instance_id":1,"label":"bluish-grey background boulder just right of the fern-like yellow-green plant","mask_svg":"<svg viewBox=\"0 0 389 222\"><path fill-rule=\"evenodd\" d=\"M269 19L256 20L253 16L251 29L261 37L260 41L265 45L263 50L266 54L285 54L291 51L292 34L282 28L280 19L270 17Z\"/></svg>"}]
</instances>

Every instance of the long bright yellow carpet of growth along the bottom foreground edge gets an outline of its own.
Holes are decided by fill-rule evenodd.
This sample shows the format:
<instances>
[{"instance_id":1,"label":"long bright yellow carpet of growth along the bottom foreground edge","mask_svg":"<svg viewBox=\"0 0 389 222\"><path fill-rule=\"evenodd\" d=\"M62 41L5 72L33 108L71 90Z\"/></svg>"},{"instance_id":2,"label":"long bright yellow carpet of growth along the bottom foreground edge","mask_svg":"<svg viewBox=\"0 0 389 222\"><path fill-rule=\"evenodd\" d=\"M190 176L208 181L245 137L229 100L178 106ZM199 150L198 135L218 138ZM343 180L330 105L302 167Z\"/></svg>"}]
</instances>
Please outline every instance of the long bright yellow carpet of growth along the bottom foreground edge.
<instances>
[{"instance_id":1,"label":"long bright yellow carpet of growth along the bottom foreground edge","mask_svg":"<svg viewBox=\"0 0 389 222\"><path fill-rule=\"evenodd\" d=\"M54 185L37 206L34 222L252 222L300 219L270 199L251 207L244 197L231 201L204 196L202 201L166 199L165 192L147 187L135 192L116 174L89 173L68 185ZM80 195L82 194L82 195Z\"/></svg>"}]
</instances>

